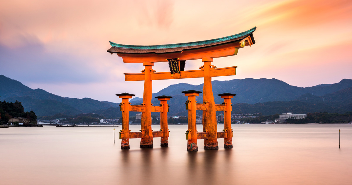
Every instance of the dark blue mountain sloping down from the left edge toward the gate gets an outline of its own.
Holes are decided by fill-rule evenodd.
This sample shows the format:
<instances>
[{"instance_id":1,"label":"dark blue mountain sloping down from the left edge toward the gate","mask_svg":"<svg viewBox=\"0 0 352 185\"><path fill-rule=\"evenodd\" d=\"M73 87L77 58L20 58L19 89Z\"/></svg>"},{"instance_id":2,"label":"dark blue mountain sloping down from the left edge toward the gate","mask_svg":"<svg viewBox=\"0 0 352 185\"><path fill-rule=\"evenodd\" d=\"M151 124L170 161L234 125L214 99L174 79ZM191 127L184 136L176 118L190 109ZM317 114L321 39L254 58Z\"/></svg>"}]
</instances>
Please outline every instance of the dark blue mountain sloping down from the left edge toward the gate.
<instances>
[{"instance_id":1,"label":"dark blue mountain sloping down from the left edge toward the gate","mask_svg":"<svg viewBox=\"0 0 352 185\"><path fill-rule=\"evenodd\" d=\"M33 90L4 75L0 75L0 98L10 102L21 101L25 111L33 110L38 116L50 116L57 113L77 115L118 106L116 103L91 98L61 97L39 88Z\"/></svg>"}]
</instances>

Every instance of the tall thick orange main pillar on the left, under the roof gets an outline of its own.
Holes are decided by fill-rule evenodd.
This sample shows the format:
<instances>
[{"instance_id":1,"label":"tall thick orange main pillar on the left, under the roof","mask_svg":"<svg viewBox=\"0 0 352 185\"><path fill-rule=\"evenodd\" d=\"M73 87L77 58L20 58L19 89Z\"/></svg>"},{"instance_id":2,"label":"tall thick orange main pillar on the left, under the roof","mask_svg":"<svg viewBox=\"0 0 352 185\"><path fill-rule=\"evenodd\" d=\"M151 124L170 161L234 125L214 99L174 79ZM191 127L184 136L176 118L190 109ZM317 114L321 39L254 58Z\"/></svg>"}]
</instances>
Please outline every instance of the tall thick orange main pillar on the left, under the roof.
<instances>
[{"instance_id":1,"label":"tall thick orange main pillar on the left, under the roof","mask_svg":"<svg viewBox=\"0 0 352 185\"><path fill-rule=\"evenodd\" d=\"M153 148L153 133L152 133L152 80L150 73L152 71L153 62L143 62L144 68L144 92L143 105L145 111L142 112L140 120L141 131L144 132L140 140L140 148Z\"/></svg>"}]
</instances>

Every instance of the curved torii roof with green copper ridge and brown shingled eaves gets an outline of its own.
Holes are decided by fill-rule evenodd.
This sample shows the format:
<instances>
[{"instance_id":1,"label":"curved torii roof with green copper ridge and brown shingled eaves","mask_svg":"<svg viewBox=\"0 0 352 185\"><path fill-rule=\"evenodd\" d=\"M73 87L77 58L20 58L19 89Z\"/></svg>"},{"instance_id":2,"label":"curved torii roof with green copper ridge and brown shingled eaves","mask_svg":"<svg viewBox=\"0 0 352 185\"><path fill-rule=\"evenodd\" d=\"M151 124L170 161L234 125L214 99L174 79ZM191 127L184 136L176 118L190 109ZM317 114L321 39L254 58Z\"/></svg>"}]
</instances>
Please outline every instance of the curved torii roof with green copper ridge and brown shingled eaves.
<instances>
[{"instance_id":1,"label":"curved torii roof with green copper ridge and brown shingled eaves","mask_svg":"<svg viewBox=\"0 0 352 185\"><path fill-rule=\"evenodd\" d=\"M253 27L245 32L238 33L227 37L211 39L198 42L187 42L179 44L164 44L164 45L125 45L110 42L112 46L107 52L109 53L126 53L126 54L165 54L177 53L184 50L201 49L207 47L214 47L216 45L228 44L241 41L242 39L250 36L253 44L255 44L253 32L257 27Z\"/></svg>"}]
</instances>

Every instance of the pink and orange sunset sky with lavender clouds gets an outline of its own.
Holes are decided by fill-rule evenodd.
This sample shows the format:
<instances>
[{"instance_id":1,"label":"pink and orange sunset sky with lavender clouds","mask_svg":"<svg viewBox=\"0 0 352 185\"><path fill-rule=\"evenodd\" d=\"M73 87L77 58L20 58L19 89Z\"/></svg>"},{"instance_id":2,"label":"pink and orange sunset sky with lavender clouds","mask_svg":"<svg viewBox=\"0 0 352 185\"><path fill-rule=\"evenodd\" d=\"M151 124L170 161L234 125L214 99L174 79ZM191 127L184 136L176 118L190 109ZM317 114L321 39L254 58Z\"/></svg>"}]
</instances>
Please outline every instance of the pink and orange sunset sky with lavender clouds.
<instances>
[{"instance_id":1,"label":"pink and orange sunset sky with lavender clouds","mask_svg":"<svg viewBox=\"0 0 352 185\"><path fill-rule=\"evenodd\" d=\"M276 78L298 87L352 79L351 0L76 1L0 0L0 74L71 98L120 102L143 96L143 82L125 82L142 64L106 52L109 41L157 45L234 35L257 26L256 44L237 56L215 58L238 66L236 76ZM185 70L202 66L188 61ZM168 71L166 62L153 66ZM153 81L153 93L181 82Z\"/></svg>"}]
</instances>

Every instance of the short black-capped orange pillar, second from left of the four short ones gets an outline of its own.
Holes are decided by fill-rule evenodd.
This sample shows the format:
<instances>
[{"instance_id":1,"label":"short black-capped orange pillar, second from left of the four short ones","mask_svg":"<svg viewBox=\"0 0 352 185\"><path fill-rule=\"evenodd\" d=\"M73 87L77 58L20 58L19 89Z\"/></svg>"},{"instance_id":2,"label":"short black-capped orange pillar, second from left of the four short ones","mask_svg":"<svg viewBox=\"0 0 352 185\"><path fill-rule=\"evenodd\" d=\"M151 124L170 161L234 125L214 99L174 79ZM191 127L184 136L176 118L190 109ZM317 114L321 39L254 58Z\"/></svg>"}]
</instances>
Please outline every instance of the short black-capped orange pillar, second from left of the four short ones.
<instances>
[{"instance_id":1,"label":"short black-capped orange pillar, second from left of the four short ones","mask_svg":"<svg viewBox=\"0 0 352 185\"><path fill-rule=\"evenodd\" d=\"M160 101L160 106L163 106L163 112L160 112L160 131L163 132L163 137L160 140L160 146L168 147L169 146L169 129L168 129L168 100L172 98L172 96L157 96Z\"/></svg>"}]
</instances>

